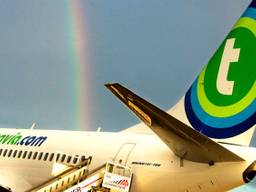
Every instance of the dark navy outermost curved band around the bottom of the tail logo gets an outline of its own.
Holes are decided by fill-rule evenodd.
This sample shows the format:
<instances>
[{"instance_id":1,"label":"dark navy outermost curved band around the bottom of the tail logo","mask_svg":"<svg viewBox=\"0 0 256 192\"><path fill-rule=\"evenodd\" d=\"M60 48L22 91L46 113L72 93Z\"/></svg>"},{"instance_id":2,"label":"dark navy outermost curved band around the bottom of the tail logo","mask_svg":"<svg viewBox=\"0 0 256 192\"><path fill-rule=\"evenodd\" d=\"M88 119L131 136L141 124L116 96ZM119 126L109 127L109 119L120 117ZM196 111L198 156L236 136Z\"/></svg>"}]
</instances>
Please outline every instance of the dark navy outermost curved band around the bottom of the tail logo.
<instances>
[{"instance_id":1,"label":"dark navy outermost curved band around the bottom of the tail logo","mask_svg":"<svg viewBox=\"0 0 256 192\"><path fill-rule=\"evenodd\" d=\"M250 118L246 119L244 122L236 126L219 129L219 128L205 125L196 117L192 109L190 99L191 99L191 89L189 89L189 91L186 93L185 102L184 102L185 111L186 111L188 120L194 129L196 129L198 132L204 135L207 135L208 137L217 138L217 139L234 137L236 135L239 135L247 131L256 123L256 112L255 112Z\"/></svg>"}]
</instances>

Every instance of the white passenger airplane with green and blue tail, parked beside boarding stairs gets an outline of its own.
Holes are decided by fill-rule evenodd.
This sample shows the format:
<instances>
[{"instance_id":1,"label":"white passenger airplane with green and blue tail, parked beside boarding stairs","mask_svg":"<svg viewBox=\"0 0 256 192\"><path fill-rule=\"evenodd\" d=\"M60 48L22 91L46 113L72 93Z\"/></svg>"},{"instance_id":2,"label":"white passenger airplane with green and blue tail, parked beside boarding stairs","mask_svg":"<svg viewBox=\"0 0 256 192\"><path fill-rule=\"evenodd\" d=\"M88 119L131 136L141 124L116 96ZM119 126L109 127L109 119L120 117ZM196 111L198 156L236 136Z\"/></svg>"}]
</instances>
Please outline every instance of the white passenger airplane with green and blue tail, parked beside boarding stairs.
<instances>
[{"instance_id":1,"label":"white passenger airplane with green and blue tail, parked beside boarding stairs","mask_svg":"<svg viewBox=\"0 0 256 192\"><path fill-rule=\"evenodd\" d=\"M0 185L26 191L52 177L53 161L92 157L131 167L130 192L220 192L256 175L256 0L167 112L118 83L106 87L142 121L126 130L0 129ZM169 89L169 88L168 88Z\"/></svg>"}]
</instances>

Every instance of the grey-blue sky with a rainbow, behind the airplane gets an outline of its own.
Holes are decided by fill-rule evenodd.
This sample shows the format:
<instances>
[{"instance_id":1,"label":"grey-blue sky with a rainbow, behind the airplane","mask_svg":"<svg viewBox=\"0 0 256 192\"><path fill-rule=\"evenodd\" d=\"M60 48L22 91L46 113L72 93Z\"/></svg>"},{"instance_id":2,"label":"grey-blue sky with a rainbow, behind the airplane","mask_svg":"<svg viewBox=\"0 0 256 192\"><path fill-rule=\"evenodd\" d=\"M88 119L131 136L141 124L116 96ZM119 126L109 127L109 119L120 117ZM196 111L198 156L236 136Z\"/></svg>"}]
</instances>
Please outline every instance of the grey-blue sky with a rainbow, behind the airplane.
<instances>
[{"instance_id":1,"label":"grey-blue sky with a rainbow, behind the airplane","mask_svg":"<svg viewBox=\"0 0 256 192\"><path fill-rule=\"evenodd\" d=\"M107 82L167 110L249 2L1 0L0 125L118 131L138 123Z\"/></svg>"}]
</instances>

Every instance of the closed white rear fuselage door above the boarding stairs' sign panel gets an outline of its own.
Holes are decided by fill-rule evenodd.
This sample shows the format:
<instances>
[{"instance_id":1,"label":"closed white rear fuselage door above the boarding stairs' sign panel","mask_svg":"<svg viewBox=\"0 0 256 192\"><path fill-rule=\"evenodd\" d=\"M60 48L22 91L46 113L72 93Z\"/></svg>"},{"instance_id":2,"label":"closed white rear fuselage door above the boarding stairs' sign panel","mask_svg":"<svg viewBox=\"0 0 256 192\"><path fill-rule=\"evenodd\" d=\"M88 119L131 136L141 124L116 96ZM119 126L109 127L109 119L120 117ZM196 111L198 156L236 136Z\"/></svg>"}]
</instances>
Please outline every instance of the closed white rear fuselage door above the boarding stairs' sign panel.
<instances>
[{"instance_id":1,"label":"closed white rear fuselage door above the boarding stairs' sign panel","mask_svg":"<svg viewBox=\"0 0 256 192\"><path fill-rule=\"evenodd\" d=\"M114 163L119 163L122 165L127 164L128 158L132 151L134 150L136 143L124 143L117 151L114 157Z\"/></svg>"}]
</instances>

